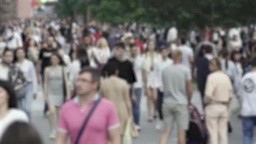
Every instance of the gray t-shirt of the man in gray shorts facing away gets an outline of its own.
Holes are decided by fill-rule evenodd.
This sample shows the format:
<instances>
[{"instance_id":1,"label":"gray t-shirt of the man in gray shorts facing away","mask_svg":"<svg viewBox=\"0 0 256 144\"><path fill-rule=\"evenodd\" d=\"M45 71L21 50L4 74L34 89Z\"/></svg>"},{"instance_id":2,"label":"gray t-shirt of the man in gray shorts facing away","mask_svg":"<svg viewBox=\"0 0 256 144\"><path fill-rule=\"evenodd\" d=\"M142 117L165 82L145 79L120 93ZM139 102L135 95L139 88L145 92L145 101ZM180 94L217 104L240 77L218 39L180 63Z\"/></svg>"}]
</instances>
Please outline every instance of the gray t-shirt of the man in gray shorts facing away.
<instances>
[{"instance_id":1,"label":"gray t-shirt of the man in gray shorts facing away","mask_svg":"<svg viewBox=\"0 0 256 144\"><path fill-rule=\"evenodd\" d=\"M188 67L170 65L163 70L164 103L188 104L186 82L191 80Z\"/></svg>"}]
</instances>

